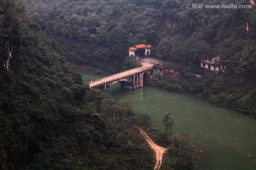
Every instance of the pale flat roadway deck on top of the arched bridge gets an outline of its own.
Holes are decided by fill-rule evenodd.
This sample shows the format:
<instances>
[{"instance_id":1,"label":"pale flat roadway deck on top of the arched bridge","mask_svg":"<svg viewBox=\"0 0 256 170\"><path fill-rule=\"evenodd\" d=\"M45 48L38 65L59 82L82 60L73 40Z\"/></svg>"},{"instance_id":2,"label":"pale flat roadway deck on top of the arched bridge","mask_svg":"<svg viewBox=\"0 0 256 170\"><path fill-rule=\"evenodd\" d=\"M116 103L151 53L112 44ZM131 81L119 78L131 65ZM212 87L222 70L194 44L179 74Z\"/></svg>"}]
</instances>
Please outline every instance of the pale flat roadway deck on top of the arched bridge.
<instances>
[{"instance_id":1,"label":"pale flat roadway deck on top of the arched bridge","mask_svg":"<svg viewBox=\"0 0 256 170\"><path fill-rule=\"evenodd\" d=\"M119 72L117 74L113 74L113 75L108 76L108 77L103 77L102 79L97 79L96 81L90 83L89 86L90 86L90 88L93 88L95 86L101 86L103 84L107 84L107 83L112 82L112 81L117 81L119 79L123 79L125 77L129 77L131 75L147 71L149 69L152 69L153 66L154 66L154 64L149 63L149 62L140 61L140 63L142 64L142 67L139 67L139 68L136 68L136 69L129 69L127 71Z\"/></svg>"}]
</instances>

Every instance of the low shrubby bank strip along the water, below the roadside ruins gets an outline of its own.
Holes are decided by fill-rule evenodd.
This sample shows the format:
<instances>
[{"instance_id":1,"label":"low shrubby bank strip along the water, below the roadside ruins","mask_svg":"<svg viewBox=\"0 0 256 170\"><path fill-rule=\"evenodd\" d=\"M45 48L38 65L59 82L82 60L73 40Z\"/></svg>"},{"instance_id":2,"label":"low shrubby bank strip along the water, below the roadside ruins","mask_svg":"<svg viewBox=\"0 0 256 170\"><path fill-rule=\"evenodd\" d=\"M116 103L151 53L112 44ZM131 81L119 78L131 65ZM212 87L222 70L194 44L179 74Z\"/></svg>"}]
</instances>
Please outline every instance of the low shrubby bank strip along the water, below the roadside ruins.
<instances>
[{"instance_id":1,"label":"low shrubby bank strip along the water, below the roadside ruins","mask_svg":"<svg viewBox=\"0 0 256 170\"><path fill-rule=\"evenodd\" d=\"M148 77L147 85L201 98L214 106L229 108L256 118L256 89L254 84L242 86L242 84L231 82L223 74L216 78L198 78L193 74L183 74L183 77L178 81L164 78L150 79Z\"/></svg>"}]
</instances>

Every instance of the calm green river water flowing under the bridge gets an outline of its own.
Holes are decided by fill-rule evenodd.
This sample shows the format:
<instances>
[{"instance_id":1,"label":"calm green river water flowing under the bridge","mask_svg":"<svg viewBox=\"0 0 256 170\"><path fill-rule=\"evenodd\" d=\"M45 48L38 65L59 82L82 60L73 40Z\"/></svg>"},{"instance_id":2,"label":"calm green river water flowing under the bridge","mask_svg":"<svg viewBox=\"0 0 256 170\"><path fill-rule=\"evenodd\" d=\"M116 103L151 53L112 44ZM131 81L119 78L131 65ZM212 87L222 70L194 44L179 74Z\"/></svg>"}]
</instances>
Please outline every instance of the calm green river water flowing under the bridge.
<instances>
[{"instance_id":1,"label":"calm green river water flowing under the bridge","mask_svg":"<svg viewBox=\"0 0 256 170\"><path fill-rule=\"evenodd\" d=\"M100 78L82 72L85 82ZM161 116L169 112L174 118L172 132L189 132L191 142L205 148L200 170L254 170L256 169L256 120L241 113L218 108L208 102L144 86L134 91L110 88L117 98L133 101L135 113L148 114L156 128L164 130Z\"/></svg>"}]
</instances>

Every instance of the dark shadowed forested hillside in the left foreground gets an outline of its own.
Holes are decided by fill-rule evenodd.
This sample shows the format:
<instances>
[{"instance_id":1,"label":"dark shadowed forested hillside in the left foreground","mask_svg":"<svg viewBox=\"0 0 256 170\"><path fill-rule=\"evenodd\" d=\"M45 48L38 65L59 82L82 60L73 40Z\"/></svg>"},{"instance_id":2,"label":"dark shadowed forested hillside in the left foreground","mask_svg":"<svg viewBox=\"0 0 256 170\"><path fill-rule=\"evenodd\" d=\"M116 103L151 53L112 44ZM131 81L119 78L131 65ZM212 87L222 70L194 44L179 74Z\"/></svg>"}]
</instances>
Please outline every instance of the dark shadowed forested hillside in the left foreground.
<instances>
[{"instance_id":1,"label":"dark shadowed forested hillside in the left foreground","mask_svg":"<svg viewBox=\"0 0 256 170\"><path fill-rule=\"evenodd\" d=\"M150 122L83 85L23 12L0 1L0 169L151 169L134 126Z\"/></svg>"}]
</instances>

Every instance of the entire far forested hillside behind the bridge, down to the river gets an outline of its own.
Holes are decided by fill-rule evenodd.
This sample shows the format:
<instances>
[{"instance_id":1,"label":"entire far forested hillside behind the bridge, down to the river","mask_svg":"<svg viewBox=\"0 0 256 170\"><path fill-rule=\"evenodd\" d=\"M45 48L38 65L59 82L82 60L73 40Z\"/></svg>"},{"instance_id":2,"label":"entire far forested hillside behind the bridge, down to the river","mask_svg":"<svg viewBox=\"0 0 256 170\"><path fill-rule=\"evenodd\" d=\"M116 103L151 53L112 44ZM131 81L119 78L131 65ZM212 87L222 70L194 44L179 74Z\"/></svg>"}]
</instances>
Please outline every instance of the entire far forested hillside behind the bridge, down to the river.
<instances>
[{"instance_id":1,"label":"entire far forested hillside behind the bridge, down to the river","mask_svg":"<svg viewBox=\"0 0 256 170\"><path fill-rule=\"evenodd\" d=\"M29 18L68 61L108 73L134 67L127 49L138 43L151 44L153 57L184 64L184 75L206 56L220 56L225 74L186 77L176 86L218 106L256 115L255 6L186 8L190 3L247 5L249 0L23 1Z\"/></svg>"}]
</instances>

